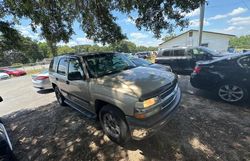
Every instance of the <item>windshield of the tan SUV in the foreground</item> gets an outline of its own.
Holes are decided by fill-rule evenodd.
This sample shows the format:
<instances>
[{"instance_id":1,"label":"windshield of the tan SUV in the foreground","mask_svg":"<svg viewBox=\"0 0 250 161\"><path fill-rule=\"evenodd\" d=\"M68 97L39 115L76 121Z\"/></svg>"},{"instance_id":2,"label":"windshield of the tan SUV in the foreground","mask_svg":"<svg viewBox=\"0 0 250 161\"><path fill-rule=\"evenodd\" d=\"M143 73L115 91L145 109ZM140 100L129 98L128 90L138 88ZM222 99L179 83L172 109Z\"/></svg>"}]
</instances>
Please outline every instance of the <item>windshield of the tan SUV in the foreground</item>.
<instances>
[{"instance_id":1,"label":"windshield of the tan SUV in the foreground","mask_svg":"<svg viewBox=\"0 0 250 161\"><path fill-rule=\"evenodd\" d=\"M88 56L86 61L92 77L101 77L136 67L126 56L120 53Z\"/></svg>"}]
</instances>

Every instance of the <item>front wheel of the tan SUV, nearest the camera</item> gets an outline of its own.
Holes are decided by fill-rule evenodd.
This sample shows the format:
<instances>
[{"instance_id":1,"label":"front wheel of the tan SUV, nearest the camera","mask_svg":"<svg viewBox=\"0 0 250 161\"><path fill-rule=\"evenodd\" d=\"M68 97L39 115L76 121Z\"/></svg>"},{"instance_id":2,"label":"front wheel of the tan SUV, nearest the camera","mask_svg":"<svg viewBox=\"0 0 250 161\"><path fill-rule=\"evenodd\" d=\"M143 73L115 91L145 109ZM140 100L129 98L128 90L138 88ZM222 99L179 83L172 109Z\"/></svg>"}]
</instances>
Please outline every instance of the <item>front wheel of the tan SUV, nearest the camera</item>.
<instances>
[{"instance_id":1,"label":"front wheel of the tan SUV, nearest the camera","mask_svg":"<svg viewBox=\"0 0 250 161\"><path fill-rule=\"evenodd\" d=\"M129 127L124 114L112 105L105 105L99 112L99 120L104 133L113 142L124 145L130 140Z\"/></svg>"}]
</instances>

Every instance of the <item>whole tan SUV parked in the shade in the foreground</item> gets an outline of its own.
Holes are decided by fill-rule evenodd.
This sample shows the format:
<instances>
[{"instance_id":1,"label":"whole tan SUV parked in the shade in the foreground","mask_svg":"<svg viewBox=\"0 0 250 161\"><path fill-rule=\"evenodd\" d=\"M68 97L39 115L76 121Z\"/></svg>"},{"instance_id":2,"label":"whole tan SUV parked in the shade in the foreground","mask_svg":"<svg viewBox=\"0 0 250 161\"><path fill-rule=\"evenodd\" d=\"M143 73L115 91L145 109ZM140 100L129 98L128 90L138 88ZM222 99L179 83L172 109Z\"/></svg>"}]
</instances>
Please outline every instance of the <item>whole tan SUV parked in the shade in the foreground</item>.
<instances>
[{"instance_id":1,"label":"whole tan SUV parked in the shade in the foreground","mask_svg":"<svg viewBox=\"0 0 250 161\"><path fill-rule=\"evenodd\" d=\"M58 56L49 76L61 105L97 118L105 134L119 144L152 135L181 100L174 73L136 67L121 53Z\"/></svg>"}]
</instances>

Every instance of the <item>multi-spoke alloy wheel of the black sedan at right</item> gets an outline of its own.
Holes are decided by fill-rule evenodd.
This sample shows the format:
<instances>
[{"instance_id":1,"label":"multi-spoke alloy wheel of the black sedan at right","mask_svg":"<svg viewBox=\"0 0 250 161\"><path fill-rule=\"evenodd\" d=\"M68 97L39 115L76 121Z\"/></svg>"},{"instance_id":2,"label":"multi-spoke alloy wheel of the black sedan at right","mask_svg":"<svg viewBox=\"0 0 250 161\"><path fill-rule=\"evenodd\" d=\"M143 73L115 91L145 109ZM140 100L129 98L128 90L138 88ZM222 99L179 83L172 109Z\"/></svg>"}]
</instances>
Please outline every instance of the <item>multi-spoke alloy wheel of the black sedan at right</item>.
<instances>
[{"instance_id":1,"label":"multi-spoke alloy wheel of the black sedan at right","mask_svg":"<svg viewBox=\"0 0 250 161\"><path fill-rule=\"evenodd\" d=\"M228 103L245 101L248 97L247 89L237 83L223 83L217 88L217 95Z\"/></svg>"}]
</instances>

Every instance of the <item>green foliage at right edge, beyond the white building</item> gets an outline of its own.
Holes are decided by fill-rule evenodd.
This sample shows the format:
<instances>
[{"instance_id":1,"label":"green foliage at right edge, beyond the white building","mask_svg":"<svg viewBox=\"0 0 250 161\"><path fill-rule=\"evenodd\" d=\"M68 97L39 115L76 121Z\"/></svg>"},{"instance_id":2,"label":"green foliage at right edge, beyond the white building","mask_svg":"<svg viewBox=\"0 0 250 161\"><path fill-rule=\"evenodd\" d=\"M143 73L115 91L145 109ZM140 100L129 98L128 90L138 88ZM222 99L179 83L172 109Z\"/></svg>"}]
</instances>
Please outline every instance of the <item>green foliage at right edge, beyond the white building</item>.
<instances>
[{"instance_id":1,"label":"green foliage at right edge, beyond the white building","mask_svg":"<svg viewBox=\"0 0 250 161\"><path fill-rule=\"evenodd\" d=\"M232 38L229 44L238 49L250 49L250 35Z\"/></svg>"}]
</instances>

